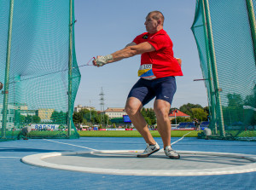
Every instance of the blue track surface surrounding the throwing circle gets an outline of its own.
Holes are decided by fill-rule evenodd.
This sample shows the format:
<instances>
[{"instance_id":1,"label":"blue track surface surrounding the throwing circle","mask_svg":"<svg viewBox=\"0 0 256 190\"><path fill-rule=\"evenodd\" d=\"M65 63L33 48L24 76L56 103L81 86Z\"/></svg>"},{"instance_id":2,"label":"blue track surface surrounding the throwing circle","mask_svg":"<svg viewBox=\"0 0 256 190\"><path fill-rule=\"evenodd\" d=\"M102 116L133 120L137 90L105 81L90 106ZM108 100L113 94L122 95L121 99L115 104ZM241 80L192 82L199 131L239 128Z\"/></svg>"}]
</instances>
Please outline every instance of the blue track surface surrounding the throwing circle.
<instances>
[{"instance_id":1,"label":"blue track surface surrounding the throwing circle","mask_svg":"<svg viewBox=\"0 0 256 190\"><path fill-rule=\"evenodd\" d=\"M155 140L162 146L160 138ZM177 138L172 138L172 141L176 140ZM54 141L80 147L44 140L0 142L0 189L255 189L256 172L219 176L116 176L40 168L20 162L20 158L36 153L88 151L82 147L96 150L137 150L145 147L142 138L90 137ZM184 138L173 148L178 151L256 155L255 141ZM158 163L163 160L166 159L160 158ZM207 162L201 162L199 167ZM240 161L239 163L241 164Z\"/></svg>"}]
</instances>

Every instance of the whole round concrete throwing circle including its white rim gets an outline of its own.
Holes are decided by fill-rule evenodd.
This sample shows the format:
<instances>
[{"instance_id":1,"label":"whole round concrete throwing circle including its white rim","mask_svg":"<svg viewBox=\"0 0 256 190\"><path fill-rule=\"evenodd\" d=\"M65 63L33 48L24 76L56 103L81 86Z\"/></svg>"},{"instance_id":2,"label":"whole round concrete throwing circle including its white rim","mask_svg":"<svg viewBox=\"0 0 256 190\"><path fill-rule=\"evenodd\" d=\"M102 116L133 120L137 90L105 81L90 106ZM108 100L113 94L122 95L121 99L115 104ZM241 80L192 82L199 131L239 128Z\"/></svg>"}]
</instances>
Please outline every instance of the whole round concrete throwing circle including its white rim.
<instances>
[{"instance_id":1,"label":"whole round concrete throwing circle including its white rim","mask_svg":"<svg viewBox=\"0 0 256 190\"><path fill-rule=\"evenodd\" d=\"M125 176L209 176L256 171L256 155L177 151L180 159L167 158L163 150L137 158L143 150L39 153L23 163L59 170Z\"/></svg>"}]
</instances>

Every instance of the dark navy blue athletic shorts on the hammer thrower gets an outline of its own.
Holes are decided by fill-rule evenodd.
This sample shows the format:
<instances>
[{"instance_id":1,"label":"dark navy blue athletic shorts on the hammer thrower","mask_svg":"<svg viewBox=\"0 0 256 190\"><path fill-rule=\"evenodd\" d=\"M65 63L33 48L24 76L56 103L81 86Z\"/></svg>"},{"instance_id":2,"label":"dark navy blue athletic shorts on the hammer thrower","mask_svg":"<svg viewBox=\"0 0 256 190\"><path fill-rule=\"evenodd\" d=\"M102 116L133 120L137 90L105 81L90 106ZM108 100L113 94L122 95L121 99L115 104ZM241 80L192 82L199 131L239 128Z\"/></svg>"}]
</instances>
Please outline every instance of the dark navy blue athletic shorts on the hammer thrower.
<instances>
[{"instance_id":1,"label":"dark navy blue athletic shorts on the hammer thrower","mask_svg":"<svg viewBox=\"0 0 256 190\"><path fill-rule=\"evenodd\" d=\"M175 77L158 78L146 80L140 78L132 87L128 98L136 97L146 105L152 99L167 101L172 105L173 95L176 92Z\"/></svg>"}]
</instances>

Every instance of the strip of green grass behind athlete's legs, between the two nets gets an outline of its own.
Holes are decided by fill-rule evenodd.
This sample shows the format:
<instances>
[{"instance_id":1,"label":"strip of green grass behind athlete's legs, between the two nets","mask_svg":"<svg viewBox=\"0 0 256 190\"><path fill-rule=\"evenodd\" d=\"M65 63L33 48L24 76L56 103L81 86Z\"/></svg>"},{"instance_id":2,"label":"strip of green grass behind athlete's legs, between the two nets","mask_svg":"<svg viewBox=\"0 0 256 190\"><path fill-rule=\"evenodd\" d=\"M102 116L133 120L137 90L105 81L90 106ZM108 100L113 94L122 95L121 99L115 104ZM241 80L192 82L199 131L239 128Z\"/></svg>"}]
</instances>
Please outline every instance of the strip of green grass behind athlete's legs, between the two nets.
<instances>
[{"instance_id":1,"label":"strip of green grass behind athlete's legs, between the two nets","mask_svg":"<svg viewBox=\"0 0 256 190\"><path fill-rule=\"evenodd\" d=\"M141 137L137 130L85 130L78 131L81 137ZM189 133L191 132L191 133ZM201 131L195 130L172 130L172 137L182 137L186 135L186 137L197 137L197 133ZM160 137L160 134L157 130L150 130L150 133L153 137Z\"/></svg>"}]
</instances>

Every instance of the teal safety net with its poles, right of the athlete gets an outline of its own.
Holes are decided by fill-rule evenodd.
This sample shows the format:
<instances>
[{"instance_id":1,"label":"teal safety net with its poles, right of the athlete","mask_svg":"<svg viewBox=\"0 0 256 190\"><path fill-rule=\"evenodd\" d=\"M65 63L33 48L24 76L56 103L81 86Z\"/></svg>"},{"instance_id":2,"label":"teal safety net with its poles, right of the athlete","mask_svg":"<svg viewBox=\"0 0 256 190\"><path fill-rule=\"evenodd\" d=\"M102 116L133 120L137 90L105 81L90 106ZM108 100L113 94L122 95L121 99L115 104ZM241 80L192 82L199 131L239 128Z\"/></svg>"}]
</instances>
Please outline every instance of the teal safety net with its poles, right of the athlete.
<instances>
[{"instance_id":1,"label":"teal safety net with its poles, right of the athlete","mask_svg":"<svg viewBox=\"0 0 256 190\"><path fill-rule=\"evenodd\" d=\"M255 10L256 0L196 1L191 30L207 87L209 138L256 141Z\"/></svg>"}]
</instances>

